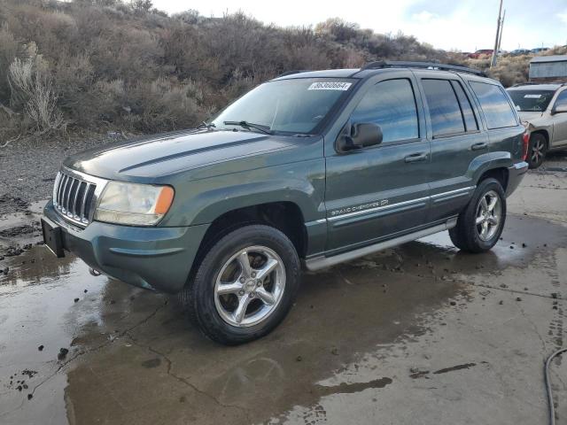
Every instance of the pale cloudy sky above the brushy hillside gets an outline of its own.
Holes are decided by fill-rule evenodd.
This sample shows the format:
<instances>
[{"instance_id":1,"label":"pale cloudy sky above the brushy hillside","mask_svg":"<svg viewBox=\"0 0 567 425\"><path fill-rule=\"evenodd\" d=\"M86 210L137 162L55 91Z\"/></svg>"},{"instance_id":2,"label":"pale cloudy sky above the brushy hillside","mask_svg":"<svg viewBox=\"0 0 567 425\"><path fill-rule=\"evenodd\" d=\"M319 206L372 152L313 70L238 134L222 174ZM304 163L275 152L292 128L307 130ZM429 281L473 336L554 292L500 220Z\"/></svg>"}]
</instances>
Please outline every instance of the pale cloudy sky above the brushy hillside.
<instances>
[{"instance_id":1,"label":"pale cloudy sky above the brushy hillside","mask_svg":"<svg viewBox=\"0 0 567 425\"><path fill-rule=\"evenodd\" d=\"M493 49L499 0L153 0L159 10L188 9L220 17L241 10L280 27L315 26L342 18L377 33L414 35L438 49ZM501 49L553 47L567 44L567 0L504 0L506 10Z\"/></svg>"}]
</instances>

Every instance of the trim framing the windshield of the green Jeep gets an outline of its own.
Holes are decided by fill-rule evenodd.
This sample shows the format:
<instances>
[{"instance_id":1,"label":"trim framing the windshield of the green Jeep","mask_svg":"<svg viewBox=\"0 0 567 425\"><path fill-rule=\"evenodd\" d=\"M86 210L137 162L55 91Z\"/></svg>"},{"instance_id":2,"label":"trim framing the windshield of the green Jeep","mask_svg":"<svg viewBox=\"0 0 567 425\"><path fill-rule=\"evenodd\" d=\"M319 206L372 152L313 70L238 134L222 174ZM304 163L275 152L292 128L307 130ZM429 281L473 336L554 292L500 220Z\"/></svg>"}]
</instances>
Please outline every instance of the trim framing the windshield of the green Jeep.
<instances>
[{"instance_id":1,"label":"trim framing the windshield of the green Jeep","mask_svg":"<svg viewBox=\"0 0 567 425\"><path fill-rule=\"evenodd\" d=\"M282 81L298 81L298 80L314 80L315 82L316 81L330 81L330 80L332 80L332 81L345 81L345 82L352 83L352 86L350 87L350 89L345 90L345 93L342 94L340 97L338 97L335 104L333 104L331 106L329 112L327 112L325 117L319 123L317 123L315 128L313 128L311 131L308 131L308 132L284 131L284 130L276 130L276 129L272 129L272 128L270 128L270 130L269 130L273 135L287 135L287 136L299 135L299 136L304 136L304 137L314 136L314 135L322 135L324 133L324 130L330 124L330 122L334 121L334 119L337 117L337 112L340 112L343 109L343 107L346 104L348 104L349 99L353 96L353 93L355 93L357 91L359 83L360 83L361 80L358 79L358 78L350 78L350 77L308 77L308 76L299 76L299 75L300 74L298 74L297 77L294 76L293 78L285 78L283 80L268 80L268 81L264 81L264 82L262 82L262 83L260 83L256 86L254 86L252 89L245 91L245 93L243 93L240 97L237 97L235 100L233 100L229 104L226 104L224 106L224 108L221 109L221 111L214 114L214 117L211 118L210 120L207 120L207 122L213 123L215 120L218 120L218 118L221 116L221 113L226 111L227 108L229 108L229 106L231 104L235 104L238 100L240 100L242 97L245 97L253 89L256 89L256 88L258 88L258 87L260 87L261 85L264 85L264 84L270 84L270 83L282 82ZM230 126L230 127L232 127L232 126ZM217 125L217 129L223 129L223 127L219 127ZM227 129L231 129L231 128L227 128ZM242 131L242 130L238 130L238 131ZM260 131L255 130L254 128L252 128L251 130L244 130L244 131L252 131L254 133L257 132L257 133L261 134Z\"/></svg>"}]
</instances>

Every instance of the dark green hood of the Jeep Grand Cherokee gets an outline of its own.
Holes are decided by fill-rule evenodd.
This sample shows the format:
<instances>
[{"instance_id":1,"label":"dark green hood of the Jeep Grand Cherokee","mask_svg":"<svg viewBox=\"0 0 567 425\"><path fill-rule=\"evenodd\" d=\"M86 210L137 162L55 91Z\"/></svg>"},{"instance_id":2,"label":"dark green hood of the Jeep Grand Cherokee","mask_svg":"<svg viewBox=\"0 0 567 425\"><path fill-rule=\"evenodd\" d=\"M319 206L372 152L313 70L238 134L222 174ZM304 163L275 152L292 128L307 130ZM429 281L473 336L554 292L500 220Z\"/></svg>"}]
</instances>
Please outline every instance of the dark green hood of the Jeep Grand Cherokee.
<instances>
[{"instance_id":1,"label":"dark green hood of the Jeep Grand Cherokee","mask_svg":"<svg viewBox=\"0 0 567 425\"><path fill-rule=\"evenodd\" d=\"M299 146L305 139L248 131L184 130L111 143L66 158L64 166L113 180L153 180L185 170Z\"/></svg>"}]
</instances>

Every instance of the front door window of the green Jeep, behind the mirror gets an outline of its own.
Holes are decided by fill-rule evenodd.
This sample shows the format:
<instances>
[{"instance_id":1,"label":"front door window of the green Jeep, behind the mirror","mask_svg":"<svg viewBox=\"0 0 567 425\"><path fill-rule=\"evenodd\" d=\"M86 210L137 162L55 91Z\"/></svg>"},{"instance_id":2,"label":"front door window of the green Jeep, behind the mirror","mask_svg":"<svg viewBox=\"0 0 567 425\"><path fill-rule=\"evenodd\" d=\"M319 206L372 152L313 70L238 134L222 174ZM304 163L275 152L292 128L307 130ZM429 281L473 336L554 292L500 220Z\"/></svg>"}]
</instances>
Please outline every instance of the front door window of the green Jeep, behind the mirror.
<instances>
[{"instance_id":1,"label":"front door window of the green Jeep, behind the mirror","mask_svg":"<svg viewBox=\"0 0 567 425\"><path fill-rule=\"evenodd\" d=\"M378 82L362 97L351 121L380 126L383 143L419 137L416 97L409 80Z\"/></svg>"}]
</instances>

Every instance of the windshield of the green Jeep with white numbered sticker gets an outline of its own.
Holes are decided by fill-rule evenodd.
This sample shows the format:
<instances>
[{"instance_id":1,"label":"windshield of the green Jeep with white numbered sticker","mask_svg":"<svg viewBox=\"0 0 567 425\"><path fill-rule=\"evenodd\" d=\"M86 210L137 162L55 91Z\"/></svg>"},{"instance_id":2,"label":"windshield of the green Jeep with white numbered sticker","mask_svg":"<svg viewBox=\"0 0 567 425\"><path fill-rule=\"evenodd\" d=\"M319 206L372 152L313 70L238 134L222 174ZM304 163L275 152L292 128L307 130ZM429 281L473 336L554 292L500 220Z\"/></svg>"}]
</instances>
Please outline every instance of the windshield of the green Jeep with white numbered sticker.
<instances>
[{"instance_id":1,"label":"windshield of the green Jeep with white numbered sticker","mask_svg":"<svg viewBox=\"0 0 567 425\"><path fill-rule=\"evenodd\" d=\"M245 121L271 132L315 134L330 111L353 89L353 80L299 78L269 81L230 104L213 120L216 128L243 128ZM225 124L232 121L231 124Z\"/></svg>"}]
</instances>

